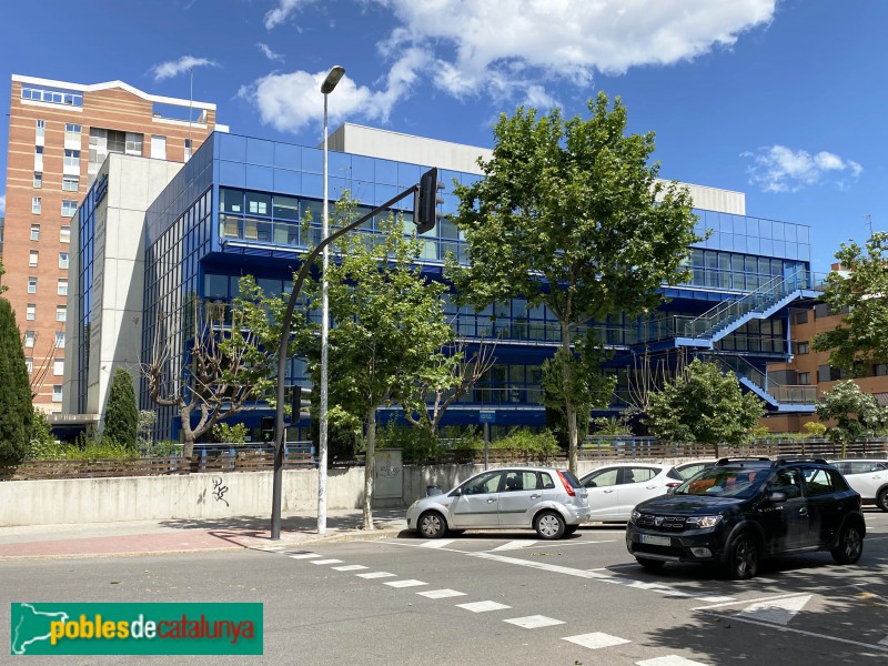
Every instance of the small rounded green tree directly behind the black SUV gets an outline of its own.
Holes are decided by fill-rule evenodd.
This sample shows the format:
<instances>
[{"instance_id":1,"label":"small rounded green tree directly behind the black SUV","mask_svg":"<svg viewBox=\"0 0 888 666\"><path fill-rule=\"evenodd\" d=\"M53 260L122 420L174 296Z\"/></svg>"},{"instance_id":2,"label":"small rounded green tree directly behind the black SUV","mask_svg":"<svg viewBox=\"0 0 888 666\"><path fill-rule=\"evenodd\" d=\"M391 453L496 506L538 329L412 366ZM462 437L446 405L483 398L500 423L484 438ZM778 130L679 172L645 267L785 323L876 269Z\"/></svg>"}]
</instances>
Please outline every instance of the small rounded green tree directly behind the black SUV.
<instances>
[{"instance_id":1,"label":"small rounded green tree directly behind the black SUV","mask_svg":"<svg viewBox=\"0 0 888 666\"><path fill-rule=\"evenodd\" d=\"M741 444L765 414L763 402L744 393L737 377L723 374L715 363L695 359L682 374L650 394L647 423L669 442L699 442L715 446Z\"/></svg>"}]
</instances>

